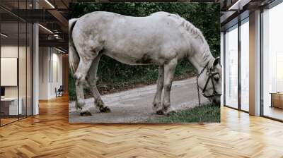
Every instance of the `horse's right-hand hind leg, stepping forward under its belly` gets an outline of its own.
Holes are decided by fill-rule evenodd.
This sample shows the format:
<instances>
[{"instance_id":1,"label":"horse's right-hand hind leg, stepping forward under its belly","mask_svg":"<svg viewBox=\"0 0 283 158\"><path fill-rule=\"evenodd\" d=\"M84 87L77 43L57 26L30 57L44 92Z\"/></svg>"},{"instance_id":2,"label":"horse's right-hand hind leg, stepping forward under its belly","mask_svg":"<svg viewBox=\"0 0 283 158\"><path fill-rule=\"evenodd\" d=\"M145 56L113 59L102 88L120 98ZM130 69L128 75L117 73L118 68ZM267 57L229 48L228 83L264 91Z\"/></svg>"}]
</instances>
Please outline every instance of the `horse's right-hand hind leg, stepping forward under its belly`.
<instances>
[{"instance_id":1,"label":"horse's right-hand hind leg, stepping forward under its belly","mask_svg":"<svg viewBox=\"0 0 283 158\"><path fill-rule=\"evenodd\" d=\"M91 92L93 94L94 97L94 101L95 101L95 105L96 107L99 108L100 112L110 112L109 107L105 107L105 104L103 102L103 100L100 97L100 93L98 92L98 89L96 87L96 83L98 80L97 77L97 71L98 71L98 65L99 65L99 61L100 61L100 57L102 56L102 54L100 53L96 59L94 59L90 70L88 71L88 77L87 77L87 81L88 81L88 85L90 85L91 87Z\"/></svg>"}]
</instances>

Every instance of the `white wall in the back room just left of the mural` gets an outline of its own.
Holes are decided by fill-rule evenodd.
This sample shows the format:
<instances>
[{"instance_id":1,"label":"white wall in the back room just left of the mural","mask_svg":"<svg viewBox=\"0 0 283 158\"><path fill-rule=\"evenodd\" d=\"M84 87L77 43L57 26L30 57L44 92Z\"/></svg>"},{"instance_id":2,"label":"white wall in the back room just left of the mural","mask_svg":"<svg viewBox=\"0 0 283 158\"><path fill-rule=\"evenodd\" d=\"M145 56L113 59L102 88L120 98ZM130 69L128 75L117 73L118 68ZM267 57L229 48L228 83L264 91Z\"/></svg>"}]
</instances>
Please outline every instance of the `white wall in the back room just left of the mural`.
<instances>
[{"instance_id":1,"label":"white wall in the back room just left of the mural","mask_svg":"<svg viewBox=\"0 0 283 158\"><path fill-rule=\"evenodd\" d=\"M55 87L58 89L60 85L62 85L62 54L51 47L40 47L39 99L56 97Z\"/></svg>"}]
</instances>

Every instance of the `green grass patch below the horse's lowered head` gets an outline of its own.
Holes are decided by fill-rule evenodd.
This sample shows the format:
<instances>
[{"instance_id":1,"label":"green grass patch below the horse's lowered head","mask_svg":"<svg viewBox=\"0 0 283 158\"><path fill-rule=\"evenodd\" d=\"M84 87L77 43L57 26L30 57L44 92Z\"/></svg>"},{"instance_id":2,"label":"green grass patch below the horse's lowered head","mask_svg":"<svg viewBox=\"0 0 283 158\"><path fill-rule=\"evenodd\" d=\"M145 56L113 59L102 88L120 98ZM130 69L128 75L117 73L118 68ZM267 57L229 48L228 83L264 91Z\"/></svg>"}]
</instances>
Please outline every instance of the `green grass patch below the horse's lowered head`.
<instances>
[{"instance_id":1,"label":"green grass patch below the horse's lowered head","mask_svg":"<svg viewBox=\"0 0 283 158\"><path fill-rule=\"evenodd\" d=\"M147 121L149 123L220 122L220 107L214 104L204 104L201 107L177 111L161 118L150 118Z\"/></svg>"}]
</instances>

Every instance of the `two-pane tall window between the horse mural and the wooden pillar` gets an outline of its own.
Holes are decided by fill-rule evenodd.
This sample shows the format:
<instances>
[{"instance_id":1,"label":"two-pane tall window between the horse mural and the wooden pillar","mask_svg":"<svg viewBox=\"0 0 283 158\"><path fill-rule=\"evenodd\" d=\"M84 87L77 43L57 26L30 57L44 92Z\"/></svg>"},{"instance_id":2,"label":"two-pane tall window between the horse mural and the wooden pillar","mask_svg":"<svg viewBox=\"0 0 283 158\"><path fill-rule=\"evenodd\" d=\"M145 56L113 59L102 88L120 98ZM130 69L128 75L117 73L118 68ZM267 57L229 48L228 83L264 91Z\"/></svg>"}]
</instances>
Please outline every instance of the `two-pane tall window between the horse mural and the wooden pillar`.
<instances>
[{"instance_id":1,"label":"two-pane tall window between the horse mural and the wooden pillar","mask_svg":"<svg viewBox=\"0 0 283 158\"><path fill-rule=\"evenodd\" d=\"M249 111L249 18L226 30L224 41L225 105Z\"/></svg>"}]
</instances>

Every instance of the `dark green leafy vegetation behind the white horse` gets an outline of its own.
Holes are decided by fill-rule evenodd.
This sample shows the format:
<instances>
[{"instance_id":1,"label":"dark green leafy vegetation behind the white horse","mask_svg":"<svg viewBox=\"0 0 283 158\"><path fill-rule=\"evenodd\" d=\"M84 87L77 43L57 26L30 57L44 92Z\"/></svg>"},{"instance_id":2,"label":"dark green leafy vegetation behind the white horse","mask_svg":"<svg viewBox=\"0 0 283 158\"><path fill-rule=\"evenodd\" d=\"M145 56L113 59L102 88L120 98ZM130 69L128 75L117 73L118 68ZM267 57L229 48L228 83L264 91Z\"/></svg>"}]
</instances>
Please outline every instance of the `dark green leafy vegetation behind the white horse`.
<instances>
[{"instance_id":1,"label":"dark green leafy vegetation behind the white horse","mask_svg":"<svg viewBox=\"0 0 283 158\"><path fill-rule=\"evenodd\" d=\"M190 21L197 28L202 30L207 39L209 47L214 56L219 56L220 52L220 7L215 3L76 3L70 5L70 18L79 18L86 13L93 11L110 11L126 16L149 16L157 11L177 13L181 17ZM129 66L108 56L103 56L98 68L98 90L107 87L127 87L140 83L154 83L157 79L157 66ZM175 77L196 75L195 68L183 59L178 63L175 70ZM105 87L105 86L104 86ZM106 88L108 90L109 88ZM90 90L86 90L88 94ZM73 74L69 75L69 96L75 99Z\"/></svg>"}]
</instances>

